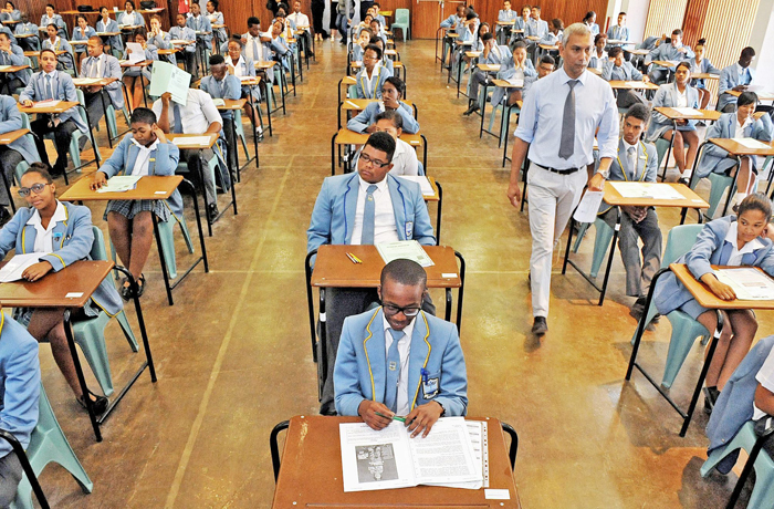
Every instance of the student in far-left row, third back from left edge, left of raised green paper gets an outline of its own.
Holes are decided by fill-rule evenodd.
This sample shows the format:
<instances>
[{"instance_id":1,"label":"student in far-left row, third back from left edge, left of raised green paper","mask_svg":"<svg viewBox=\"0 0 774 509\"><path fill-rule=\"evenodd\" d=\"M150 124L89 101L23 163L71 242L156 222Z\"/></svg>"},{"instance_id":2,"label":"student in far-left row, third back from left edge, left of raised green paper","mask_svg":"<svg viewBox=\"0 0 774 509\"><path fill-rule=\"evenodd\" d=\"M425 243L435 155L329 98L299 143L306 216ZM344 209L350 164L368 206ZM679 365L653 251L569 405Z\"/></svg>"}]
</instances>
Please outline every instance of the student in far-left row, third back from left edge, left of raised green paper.
<instances>
[{"instance_id":1,"label":"student in far-left row, third back from left edge, left of raised green paper","mask_svg":"<svg viewBox=\"0 0 774 509\"><path fill-rule=\"evenodd\" d=\"M116 114L124 108L124 91L121 87L121 64L118 59L102 51L102 38L88 38L86 50L88 58L81 62L82 77L115 77L116 81L106 86L86 86L83 98L86 101L88 122L96 125L105 113L104 107L112 104ZM104 106L103 106L104 104Z\"/></svg>"}]
</instances>

